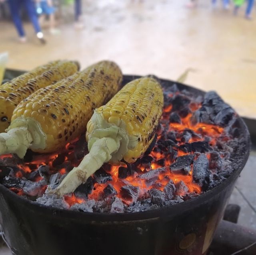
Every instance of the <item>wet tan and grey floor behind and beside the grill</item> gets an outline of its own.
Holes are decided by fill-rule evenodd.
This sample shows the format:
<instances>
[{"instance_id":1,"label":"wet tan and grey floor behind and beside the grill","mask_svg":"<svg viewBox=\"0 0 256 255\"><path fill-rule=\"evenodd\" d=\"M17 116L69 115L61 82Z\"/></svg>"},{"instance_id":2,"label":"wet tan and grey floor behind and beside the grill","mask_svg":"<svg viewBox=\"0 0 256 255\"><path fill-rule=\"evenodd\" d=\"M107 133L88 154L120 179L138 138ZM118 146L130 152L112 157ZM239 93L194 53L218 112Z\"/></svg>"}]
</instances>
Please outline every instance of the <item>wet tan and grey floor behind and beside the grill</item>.
<instances>
[{"instance_id":1,"label":"wet tan and grey floor behind and beside the grill","mask_svg":"<svg viewBox=\"0 0 256 255\"><path fill-rule=\"evenodd\" d=\"M82 67L112 59L123 73L154 73L173 80L191 69L187 84L216 90L240 115L256 118L256 14L248 21L243 10L234 17L231 10L212 10L210 0L198 2L191 10L185 0L87 0L85 28L77 31L70 23L62 24L59 35L46 31L46 45L37 42L30 24L25 25L28 42L20 44L12 24L1 22L0 52L8 51L8 67L18 69L58 58L78 59ZM70 16L69 9L64 12ZM254 229L255 164L252 152L230 199L242 207L238 223ZM0 249L0 255L9 254Z\"/></svg>"}]
</instances>

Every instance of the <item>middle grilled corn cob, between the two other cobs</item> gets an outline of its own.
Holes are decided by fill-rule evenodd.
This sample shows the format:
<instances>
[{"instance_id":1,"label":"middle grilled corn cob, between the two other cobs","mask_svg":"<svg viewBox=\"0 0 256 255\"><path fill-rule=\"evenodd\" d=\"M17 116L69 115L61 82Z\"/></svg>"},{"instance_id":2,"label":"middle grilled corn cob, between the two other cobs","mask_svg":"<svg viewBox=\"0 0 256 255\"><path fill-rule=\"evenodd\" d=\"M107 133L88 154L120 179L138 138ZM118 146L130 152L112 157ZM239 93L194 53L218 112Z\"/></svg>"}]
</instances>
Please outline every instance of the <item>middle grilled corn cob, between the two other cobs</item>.
<instances>
[{"instance_id":1,"label":"middle grilled corn cob, between the two other cobs","mask_svg":"<svg viewBox=\"0 0 256 255\"><path fill-rule=\"evenodd\" d=\"M39 89L14 110L8 132L0 134L0 154L23 158L28 148L52 152L64 147L85 132L93 110L118 91L121 81L119 67L101 61Z\"/></svg>"}]
</instances>

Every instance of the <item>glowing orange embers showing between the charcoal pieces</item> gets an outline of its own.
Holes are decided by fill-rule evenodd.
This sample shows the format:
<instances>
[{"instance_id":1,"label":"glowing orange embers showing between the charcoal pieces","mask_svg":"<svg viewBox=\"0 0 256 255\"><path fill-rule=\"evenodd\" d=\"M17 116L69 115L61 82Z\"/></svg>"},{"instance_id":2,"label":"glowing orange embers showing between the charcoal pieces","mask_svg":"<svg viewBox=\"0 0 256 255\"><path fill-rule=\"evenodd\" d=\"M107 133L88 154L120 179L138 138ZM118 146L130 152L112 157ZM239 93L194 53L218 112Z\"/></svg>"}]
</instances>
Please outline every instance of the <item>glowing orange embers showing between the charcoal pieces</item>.
<instances>
[{"instance_id":1,"label":"glowing orange embers showing between the charcoal pieces","mask_svg":"<svg viewBox=\"0 0 256 255\"><path fill-rule=\"evenodd\" d=\"M177 95L178 92L175 93L175 95ZM172 93L169 94L169 96L173 96ZM189 105L190 110L196 111L197 109L199 109L201 107L200 103L196 103L196 102L192 102ZM188 155L188 153L178 149L178 146L184 144L182 137L182 133L184 132L184 130L192 130L193 132L189 131L191 134L191 138L190 136L188 136L189 140L188 143L192 143L192 142L198 142L198 141L203 141L205 140L205 137L210 137L210 146L214 146L216 145L216 142L218 141L217 139L220 137L220 135L222 135L224 133L224 129L222 127L218 127L216 125L210 125L210 124L205 124L205 123L197 123L196 125L193 125L192 122L190 121L193 113L189 113L186 117L181 118L181 123L168 123L168 119L170 116L170 113L172 111L172 105L168 105L167 107L164 108L163 110L163 115L162 115L162 127L160 130L157 131L157 140L163 139L163 131L164 128L166 128L166 132L168 131L174 131L177 135L176 140L177 140L177 146L174 146L173 148L171 148L174 151L174 155L172 155L171 153L168 154L167 149L165 150L165 148L163 150L165 151L161 151L159 148L162 148L158 145L158 148L154 148L154 150L152 150L150 152L150 156L153 158L152 162L151 162L151 168L150 168L150 164L139 164L136 163L136 167L138 169L140 169L143 174L146 173L147 171L154 171L158 168L163 168L165 167L165 172L161 172L158 176L154 176L151 180L144 180L142 178L140 178L138 176L138 174L141 174L141 172L138 170L137 172L134 171L132 172L131 176L128 177L124 177L125 179L118 179L118 169L120 166L122 167L126 167L126 164L122 163L122 165L120 166L111 166L110 168L108 168L107 172L112 176L112 181L108 181L105 184L94 184L94 189L92 190L91 194L88 194L88 198L89 199L95 199L95 200L101 200L104 198L104 188L106 188L106 186L108 184L112 184L112 186L115 188L115 190L118 192L117 196L119 198L121 198L123 200L124 203L128 204L129 201L125 201L122 196L120 195L120 190L122 188L122 186L127 185L127 184L132 184L133 186L137 186L140 188L140 192L143 194L148 192L148 190L152 189L152 188L156 188L159 190L164 190L164 187L166 186L166 184L168 184L168 182L170 180L172 180L174 182L174 184L177 184L180 181L183 181L186 186L188 187L188 192L195 192L197 194L201 193L201 188L200 186L198 186L198 184L193 182L193 166L191 166L191 169L189 174L185 175L185 174L174 174L173 172L170 171L170 166L174 163L173 157L176 156L176 152L177 152L177 157L180 156L185 156ZM167 134L166 134L167 136ZM168 136L167 136L168 137ZM223 141L227 141L229 139L228 136L221 136ZM182 140L182 141L181 141ZM65 147L63 148L63 150L59 151L59 152L55 152L55 153L51 153L51 154L35 154L33 155L33 160L30 163L23 163L18 165L22 171L18 171L16 172L15 176L18 178L22 178L27 177L28 174L32 171L34 171L35 168L31 167L31 164L36 165L36 167L38 168L39 166L42 165L47 165L50 167L50 173L56 173L59 172L60 174L66 174L68 172L68 170L66 170L66 168L64 168L64 165L55 167L55 164L53 164L53 161L58 157L59 153L63 153L64 156L64 163L68 162L71 163L71 169L73 166L77 166L79 164L79 160L76 160L75 156L74 156L74 150L72 149L74 147L74 142L78 141L78 138L76 138L75 140L73 140L72 142L68 142ZM186 140L187 141L187 140ZM192 152L193 153L193 152ZM206 156L210 157L209 154L206 154ZM8 154L8 155L2 155L0 156L0 159L5 158L5 157L12 157L12 154ZM57 159L58 160L58 159ZM57 161L56 160L56 161ZM63 157L62 157L63 160ZM54 161L54 163L56 162ZM69 165L70 166L70 165ZM105 165L107 167L109 167L109 165ZM103 166L103 168L105 167ZM61 169L60 169L61 168ZM107 168L106 168L107 169ZM38 182L42 180L41 176L36 176L34 178L34 181ZM46 186L44 186L42 188L42 192L44 192L46 189ZM11 188L11 190L13 190L16 194L18 195L23 195L23 192L21 190L18 189L14 189ZM184 196L185 192L180 191L181 193L179 194L180 196ZM82 198L77 198L74 194L72 194L71 196L64 196L65 201L70 205L74 205L76 203L81 204L84 203L85 200Z\"/></svg>"}]
</instances>

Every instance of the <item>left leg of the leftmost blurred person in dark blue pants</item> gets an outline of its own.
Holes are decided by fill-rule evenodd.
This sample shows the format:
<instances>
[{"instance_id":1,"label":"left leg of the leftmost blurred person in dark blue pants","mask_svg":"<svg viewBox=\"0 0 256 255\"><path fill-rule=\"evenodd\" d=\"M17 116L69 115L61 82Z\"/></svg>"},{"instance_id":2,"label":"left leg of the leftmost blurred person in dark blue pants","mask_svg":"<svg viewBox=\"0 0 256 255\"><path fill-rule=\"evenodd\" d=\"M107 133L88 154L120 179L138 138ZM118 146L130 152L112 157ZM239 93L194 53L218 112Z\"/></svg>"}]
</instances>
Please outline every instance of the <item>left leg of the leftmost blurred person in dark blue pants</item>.
<instances>
[{"instance_id":1,"label":"left leg of the leftmost blurred person in dark blue pants","mask_svg":"<svg viewBox=\"0 0 256 255\"><path fill-rule=\"evenodd\" d=\"M22 26L22 21L20 19L20 5L22 4L22 0L8 0L10 13L12 15L12 20L14 22L14 25L18 31L18 34L20 38L25 37L25 32Z\"/></svg>"}]
</instances>

